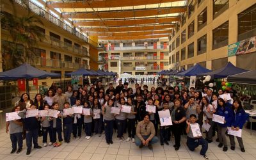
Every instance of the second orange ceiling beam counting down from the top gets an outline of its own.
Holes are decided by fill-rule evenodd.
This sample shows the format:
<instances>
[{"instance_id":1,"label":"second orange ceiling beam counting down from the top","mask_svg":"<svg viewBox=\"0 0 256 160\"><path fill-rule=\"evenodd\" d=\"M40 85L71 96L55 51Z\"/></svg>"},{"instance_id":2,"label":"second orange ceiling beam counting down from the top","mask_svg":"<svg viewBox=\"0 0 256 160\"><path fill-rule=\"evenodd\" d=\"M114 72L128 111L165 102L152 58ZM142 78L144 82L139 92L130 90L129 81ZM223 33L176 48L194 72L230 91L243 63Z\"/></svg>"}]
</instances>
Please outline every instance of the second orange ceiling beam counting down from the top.
<instances>
[{"instance_id":1,"label":"second orange ceiling beam counting down from the top","mask_svg":"<svg viewBox=\"0 0 256 160\"><path fill-rule=\"evenodd\" d=\"M77 12L77 13L65 13L63 18L67 19L117 19L117 18L129 18L129 17L145 17L152 15L165 15L170 13L186 12L186 6L170 7L170 8L152 8L146 10L120 10L120 11L108 11L108 12Z\"/></svg>"}]
</instances>

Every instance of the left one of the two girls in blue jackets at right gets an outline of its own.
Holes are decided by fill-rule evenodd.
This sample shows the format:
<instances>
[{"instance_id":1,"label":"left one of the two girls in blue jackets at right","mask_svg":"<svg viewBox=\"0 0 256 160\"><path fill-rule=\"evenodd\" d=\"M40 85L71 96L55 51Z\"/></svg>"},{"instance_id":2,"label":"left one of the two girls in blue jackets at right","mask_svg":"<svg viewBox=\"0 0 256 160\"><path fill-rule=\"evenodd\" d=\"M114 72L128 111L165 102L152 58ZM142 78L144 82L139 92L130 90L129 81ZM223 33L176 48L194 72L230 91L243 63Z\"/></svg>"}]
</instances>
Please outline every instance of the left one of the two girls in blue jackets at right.
<instances>
[{"instance_id":1,"label":"left one of the two girls in blue jackets at right","mask_svg":"<svg viewBox=\"0 0 256 160\"><path fill-rule=\"evenodd\" d=\"M230 126L230 122L232 121L232 111L230 108L226 106L226 103L223 99L219 98L218 99L218 108L216 110L216 115L219 116L224 116L224 124L218 123L217 122L217 127L218 127L218 138L220 140L220 144L218 147L223 147L223 151L226 152L228 150L227 146L227 139L226 139L226 131L227 127Z\"/></svg>"}]
</instances>

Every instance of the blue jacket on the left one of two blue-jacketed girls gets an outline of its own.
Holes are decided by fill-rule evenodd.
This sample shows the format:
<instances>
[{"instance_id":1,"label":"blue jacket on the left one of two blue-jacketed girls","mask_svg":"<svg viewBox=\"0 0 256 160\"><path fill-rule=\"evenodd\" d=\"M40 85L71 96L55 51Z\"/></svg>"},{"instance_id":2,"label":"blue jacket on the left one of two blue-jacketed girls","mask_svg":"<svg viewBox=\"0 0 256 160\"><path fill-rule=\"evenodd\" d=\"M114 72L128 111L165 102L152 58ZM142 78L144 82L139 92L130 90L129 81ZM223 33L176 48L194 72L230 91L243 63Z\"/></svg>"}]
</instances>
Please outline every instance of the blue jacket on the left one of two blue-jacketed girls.
<instances>
[{"instance_id":1,"label":"blue jacket on the left one of two blue-jacketed girls","mask_svg":"<svg viewBox=\"0 0 256 160\"><path fill-rule=\"evenodd\" d=\"M233 117L233 113L232 113L232 110L230 108L228 108L226 106L225 109L224 109L224 108L221 108L220 106L218 106L217 111L216 111L215 114L225 117L225 121L226 121L225 124L218 123L221 127L230 127L230 124L232 122L232 117Z\"/></svg>"}]
</instances>

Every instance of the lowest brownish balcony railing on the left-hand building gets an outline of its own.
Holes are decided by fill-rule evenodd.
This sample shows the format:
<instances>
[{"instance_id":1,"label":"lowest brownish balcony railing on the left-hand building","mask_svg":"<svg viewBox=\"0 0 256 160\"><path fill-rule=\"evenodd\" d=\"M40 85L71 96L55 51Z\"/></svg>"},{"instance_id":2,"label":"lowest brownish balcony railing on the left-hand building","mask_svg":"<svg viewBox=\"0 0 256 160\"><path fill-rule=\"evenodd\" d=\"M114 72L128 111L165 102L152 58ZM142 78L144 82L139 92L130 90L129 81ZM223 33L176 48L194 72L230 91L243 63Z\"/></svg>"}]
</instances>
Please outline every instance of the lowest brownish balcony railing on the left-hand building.
<instances>
[{"instance_id":1,"label":"lowest brownish balcony railing on the left-hand building","mask_svg":"<svg viewBox=\"0 0 256 160\"><path fill-rule=\"evenodd\" d=\"M42 57L34 57L33 61L28 62L30 65L40 66L40 67L51 67L51 68L70 68L70 69L78 69L85 68L88 69L88 65L81 63L72 63L69 61L61 61L54 59L47 59Z\"/></svg>"}]
</instances>

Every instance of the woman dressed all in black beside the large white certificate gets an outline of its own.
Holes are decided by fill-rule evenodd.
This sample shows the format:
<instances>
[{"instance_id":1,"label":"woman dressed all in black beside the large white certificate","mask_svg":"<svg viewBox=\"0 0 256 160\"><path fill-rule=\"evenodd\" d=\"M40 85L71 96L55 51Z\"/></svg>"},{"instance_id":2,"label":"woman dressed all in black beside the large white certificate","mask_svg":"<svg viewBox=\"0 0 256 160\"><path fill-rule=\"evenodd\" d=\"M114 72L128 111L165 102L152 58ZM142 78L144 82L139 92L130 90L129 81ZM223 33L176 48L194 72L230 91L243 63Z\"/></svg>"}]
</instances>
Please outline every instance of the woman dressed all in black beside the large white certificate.
<instances>
[{"instance_id":1,"label":"woman dressed all in black beside the large white certificate","mask_svg":"<svg viewBox=\"0 0 256 160\"><path fill-rule=\"evenodd\" d=\"M186 111L184 108L182 108L181 104L182 101L180 99L175 99L174 109L171 114L175 139L175 145L173 145L173 147L175 150L179 150L180 148L180 135L182 134L182 130L184 129L184 122L186 120Z\"/></svg>"}]
</instances>

